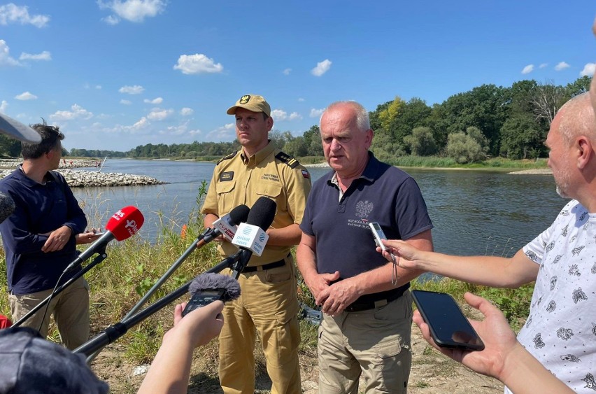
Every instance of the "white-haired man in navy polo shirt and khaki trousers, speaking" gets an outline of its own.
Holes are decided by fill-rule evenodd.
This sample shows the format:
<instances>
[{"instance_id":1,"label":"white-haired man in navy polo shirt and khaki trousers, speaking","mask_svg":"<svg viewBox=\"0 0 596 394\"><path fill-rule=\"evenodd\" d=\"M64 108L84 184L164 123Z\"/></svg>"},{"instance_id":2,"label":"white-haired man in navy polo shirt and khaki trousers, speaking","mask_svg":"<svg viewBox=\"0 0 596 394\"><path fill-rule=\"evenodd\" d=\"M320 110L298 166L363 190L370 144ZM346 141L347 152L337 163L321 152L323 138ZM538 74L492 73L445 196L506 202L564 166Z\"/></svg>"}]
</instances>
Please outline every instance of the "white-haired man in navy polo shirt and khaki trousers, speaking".
<instances>
[{"instance_id":1,"label":"white-haired man in navy polo shirt and khaki trousers, speaking","mask_svg":"<svg viewBox=\"0 0 596 394\"><path fill-rule=\"evenodd\" d=\"M390 239L432 251L432 222L416 181L369 152L373 131L364 107L331 104L320 132L333 171L313 185L297 249L300 272L323 311L319 392L357 393L362 374L367 393L406 393L408 288L420 272L376 253L369 223L378 222Z\"/></svg>"}]
</instances>

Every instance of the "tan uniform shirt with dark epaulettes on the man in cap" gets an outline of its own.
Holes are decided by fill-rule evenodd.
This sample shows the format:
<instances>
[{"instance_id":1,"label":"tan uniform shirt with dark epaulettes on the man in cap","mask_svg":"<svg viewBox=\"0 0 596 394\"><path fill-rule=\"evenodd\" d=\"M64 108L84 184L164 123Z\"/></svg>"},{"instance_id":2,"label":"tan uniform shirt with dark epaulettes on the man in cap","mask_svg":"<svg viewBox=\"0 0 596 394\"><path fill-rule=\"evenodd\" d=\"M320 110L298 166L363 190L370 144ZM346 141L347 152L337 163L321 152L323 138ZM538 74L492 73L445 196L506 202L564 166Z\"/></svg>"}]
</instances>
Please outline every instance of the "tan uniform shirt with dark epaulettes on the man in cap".
<instances>
[{"instance_id":1,"label":"tan uniform shirt with dark epaulettes on the man in cap","mask_svg":"<svg viewBox=\"0 0 596 394\"><path fill-rule=\"evenodd\" d=\"M248 208L265 196L274 199L277 211L271 228L283 228L296 223L300 225L311 191L311 177L297 160L281 152L269 143L251 157L242 150L228 155L218 162L213 171L207 196L201 213L213 213L222 217L236 206ZM282 260L290 253L291 246L265 246L263 254L253 255L249 266L264 265ZM230 242L218 247L222 257L238 251Z\"/></svg>"}]
</instances>

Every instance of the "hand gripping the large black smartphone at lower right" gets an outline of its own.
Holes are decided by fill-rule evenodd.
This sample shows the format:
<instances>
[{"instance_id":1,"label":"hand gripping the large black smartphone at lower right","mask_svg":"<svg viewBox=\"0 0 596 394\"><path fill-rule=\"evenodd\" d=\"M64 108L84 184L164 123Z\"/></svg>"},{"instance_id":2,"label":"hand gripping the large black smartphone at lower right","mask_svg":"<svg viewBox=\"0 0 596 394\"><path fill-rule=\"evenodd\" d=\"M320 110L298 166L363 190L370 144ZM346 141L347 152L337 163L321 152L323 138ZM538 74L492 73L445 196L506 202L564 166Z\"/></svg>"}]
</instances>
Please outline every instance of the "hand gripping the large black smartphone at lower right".
<instances>
[{"instance_id":1,"label":"hand gripping the large black smartphone at lower right","mask_svg":"<svg viewBox=\"0 0 596 394\"><path fill-rule=\"evenodd\" d=\"M506 358L518 346L521 347L521 344L517 341L516 335L509 327L505 316L497 307L483 297L471 293L466 293L464 298L471 307L480 310L485 316L484 321L468 319L484 342L483 351L462 351L437 346L430 336L428 325L424 322L418 310L414 311L413 321L422 331L424 339L441 353L471 368L471 370L502 379Z\"/></svg>"}]
</instances>

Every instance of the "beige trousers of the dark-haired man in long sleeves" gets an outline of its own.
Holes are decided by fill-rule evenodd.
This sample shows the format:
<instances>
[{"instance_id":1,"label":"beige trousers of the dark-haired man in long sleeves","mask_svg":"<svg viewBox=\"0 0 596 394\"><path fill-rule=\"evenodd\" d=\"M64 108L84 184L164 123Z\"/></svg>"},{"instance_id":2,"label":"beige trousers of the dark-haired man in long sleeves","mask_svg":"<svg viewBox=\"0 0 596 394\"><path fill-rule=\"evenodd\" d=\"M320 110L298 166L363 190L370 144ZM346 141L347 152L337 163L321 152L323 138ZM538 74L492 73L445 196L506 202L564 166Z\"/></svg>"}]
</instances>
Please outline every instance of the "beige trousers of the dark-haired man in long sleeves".
<instances>
[{"instance_id":1,"label":"beige trousers of the dark-haired man in long sleeves","mask_svg":"<svg viewBox=\"0 0 596 394\"><path fill-rule=\"evenodd\" d=\"M10 313L13 322L25 316L50 294L52 294L52 290L22 295L10 294L8 299L10 300ZM58 331L64 346L74 350L87 342L87 339L89 339L89 285L87 281L81 277L62 290L61 293L55 295L50 301L48 313L45 314L45 319L41 324L44 312L45 306L24 321L21 327L31 327L39 330L41 336L45 338L48 336L50 316L54 314L54 320L58 325Z\"/></svg>"}]
</instances>

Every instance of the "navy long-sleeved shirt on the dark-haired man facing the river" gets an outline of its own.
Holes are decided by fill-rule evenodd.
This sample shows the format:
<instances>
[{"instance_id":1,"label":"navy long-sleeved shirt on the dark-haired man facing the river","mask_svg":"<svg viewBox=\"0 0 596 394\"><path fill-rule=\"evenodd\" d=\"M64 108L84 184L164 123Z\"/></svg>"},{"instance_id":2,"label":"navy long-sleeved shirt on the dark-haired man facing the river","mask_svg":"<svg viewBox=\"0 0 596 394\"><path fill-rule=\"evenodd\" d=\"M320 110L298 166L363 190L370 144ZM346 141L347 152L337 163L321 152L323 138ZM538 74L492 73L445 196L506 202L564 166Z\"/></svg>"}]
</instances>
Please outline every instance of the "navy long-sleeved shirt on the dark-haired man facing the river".
<instances>
[{"instance_id":1,"label":"navy long-sleeved shirt on the dark-haired man facing the river","mask_svg":"<svg viewBox=\"0 0 596 394\"><path fill-rule=\"evenodd\" d=\"M54 288L60 274L77 257L75 234L87 227L85 213L66 180L57 172L52 174L46 175L45 185L28 178L21 169L0 181L0 191L15 202L14 213L0 223L8 290L13 294ZM73 231L69 241L61 251L43 253L41 248L48 236L41 234L62 225ZM75 273L73 270L65 275L62 283Z\"/></svg>"}]
</instances>

